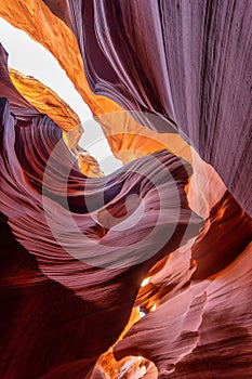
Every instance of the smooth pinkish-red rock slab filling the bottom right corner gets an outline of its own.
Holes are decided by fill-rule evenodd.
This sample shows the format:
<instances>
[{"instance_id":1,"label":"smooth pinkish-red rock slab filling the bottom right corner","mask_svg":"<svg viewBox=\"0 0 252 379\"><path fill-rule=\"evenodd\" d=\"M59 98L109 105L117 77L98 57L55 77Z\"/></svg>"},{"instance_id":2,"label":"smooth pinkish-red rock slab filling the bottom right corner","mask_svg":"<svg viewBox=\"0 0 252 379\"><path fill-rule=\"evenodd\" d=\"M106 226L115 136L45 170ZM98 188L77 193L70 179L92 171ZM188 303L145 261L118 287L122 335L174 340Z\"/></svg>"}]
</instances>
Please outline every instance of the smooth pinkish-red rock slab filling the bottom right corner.
<instances>
[{"instance_id":1,"label":"smooth pinkish-red rock slab filling the bottom right corner","mask_svg":"<svg viewBox=\"0 0 252 379\"><path fill-rule=\"evenodd\" d=\"M250 378L251 248L250 244L216 277L190 282L175 296L163 296L158 309L118 342L116 357L143 355L155 362L160 378L237 378L244 369ZM173 276L180 274L181 259L177 253L170 257ZM183 259L190 259L189 250Z\"/></svg>"}]
</instances>

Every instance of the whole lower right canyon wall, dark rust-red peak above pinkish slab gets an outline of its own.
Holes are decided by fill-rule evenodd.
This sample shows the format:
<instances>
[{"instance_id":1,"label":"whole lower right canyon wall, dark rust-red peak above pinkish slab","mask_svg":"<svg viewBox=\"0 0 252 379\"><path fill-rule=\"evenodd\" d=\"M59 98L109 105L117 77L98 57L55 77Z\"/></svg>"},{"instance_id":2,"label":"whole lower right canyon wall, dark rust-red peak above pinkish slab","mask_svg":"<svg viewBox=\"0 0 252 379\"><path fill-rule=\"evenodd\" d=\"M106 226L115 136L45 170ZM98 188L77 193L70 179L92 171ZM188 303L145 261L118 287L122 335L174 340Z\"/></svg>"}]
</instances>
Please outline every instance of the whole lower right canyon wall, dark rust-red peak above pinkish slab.
<instances>
[{"instance_id":1,"label":"whole lower right canyon wall, dark rust-red peak above pinkish slab","mask_svg":"<svg viewBox=\"0 0 252 379\"><path fill-rule=\"evenodd\" d=\"M249 378L251 236L252 220L226 193L199 236L149 271L136 299L146 316L116 344L116 358L148 358L160 378L236 378L244 367Z\"/></svg>"}]
</instances>

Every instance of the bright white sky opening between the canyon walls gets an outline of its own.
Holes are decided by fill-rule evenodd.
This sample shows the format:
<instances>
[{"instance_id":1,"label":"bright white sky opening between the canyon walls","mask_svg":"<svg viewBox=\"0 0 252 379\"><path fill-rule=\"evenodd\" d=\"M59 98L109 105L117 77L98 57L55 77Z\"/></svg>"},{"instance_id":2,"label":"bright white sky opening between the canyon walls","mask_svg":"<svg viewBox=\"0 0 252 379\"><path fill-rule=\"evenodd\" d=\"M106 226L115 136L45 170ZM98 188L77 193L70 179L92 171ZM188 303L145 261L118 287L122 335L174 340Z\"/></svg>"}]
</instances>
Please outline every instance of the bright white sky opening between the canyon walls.
<instances>
[{"instance_id":1,"label":"bright white sky opening between the canyon walls","mask_svg":"<svg viewBox=\"0 0 252 379\"><path fill-rule=\"evenodd\" d=\"M98 160L104 173L109 174L121 167L122 164L114 157L102 128L92 118L89 106L56 58L25 31L13 27L1 17L0 42L9 53L10 67L50 87L78 114L84 128L79 144Z\"/></svg>"}]
</instances>

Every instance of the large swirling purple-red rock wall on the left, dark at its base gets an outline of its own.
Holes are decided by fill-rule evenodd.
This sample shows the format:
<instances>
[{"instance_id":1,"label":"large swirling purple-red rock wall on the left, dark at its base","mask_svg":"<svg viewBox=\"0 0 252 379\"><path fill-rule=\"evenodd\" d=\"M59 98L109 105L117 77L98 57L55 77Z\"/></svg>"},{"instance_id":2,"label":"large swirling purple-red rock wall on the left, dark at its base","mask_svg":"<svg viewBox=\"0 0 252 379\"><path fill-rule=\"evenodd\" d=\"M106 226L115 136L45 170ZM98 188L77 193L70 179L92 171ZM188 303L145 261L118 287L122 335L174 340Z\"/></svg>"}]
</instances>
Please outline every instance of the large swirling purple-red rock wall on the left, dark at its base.
<instances>
[{"instance_id":1,"label":"large swirling purple-red rock wall on the left, dark at its base","mask_svg":"<svg viewBox=\"0 0 252 379\"><path fill-rule=\"evenodd\" d=\"M1 219L1 296L10 304L2 318L1 377L84 377L119 337L151 265L184 235L198 234L202 220L184 191L191 169L159 151L108 178L87 178L61 129L26 107L10 78L3 82L10 103L0 103L0 210L11 230Z\"/></svg>"}]
</instances>

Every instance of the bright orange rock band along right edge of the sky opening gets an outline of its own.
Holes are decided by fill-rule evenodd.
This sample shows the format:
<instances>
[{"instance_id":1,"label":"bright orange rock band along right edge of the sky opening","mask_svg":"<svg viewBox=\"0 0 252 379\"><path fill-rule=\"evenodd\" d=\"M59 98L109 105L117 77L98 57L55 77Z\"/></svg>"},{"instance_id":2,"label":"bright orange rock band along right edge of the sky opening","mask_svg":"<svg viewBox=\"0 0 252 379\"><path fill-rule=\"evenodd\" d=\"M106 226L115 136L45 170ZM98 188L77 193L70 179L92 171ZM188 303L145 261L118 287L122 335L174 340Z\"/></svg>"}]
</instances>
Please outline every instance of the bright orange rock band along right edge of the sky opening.
<instances>
[{"instance_id":1,"label":"bright orange rock band along right edge of the sky opening","mask_svg":"<svg viewBox=\"0 0 252 379\"><path fill-rule=\"evenodd\" d=\"M61 13L63 3L48 2L48 4L52 6L54 13L56 13L56 10ZM62 15L67 13L69 12L64 8ZM117 158L123 162L129 162L143 156L143 154L154 153L165 146L170 152L190 161L190 152L187 144L178 134L172 135L171 133L171 130L173 133L176 133L174 127L171 129L168 126L170 132L160 136L157 132L137 123L117 103L107 97L95 95L91 91L84 75L78 41L76 41L69 28L49 11L42 0L11 0L8 3L1 3L0 14L12 25L22 28L31 38L43 44L57 58L84 102L97 117L97 121L101 123L111 151ZM67 24L70 25L69 23ZM19 87L19 90L23 91L23 88ZM28 95L25 90L23 94ZM30 100L32 101L32 95ZM146 120L148 121L148 117L145 118ZM155 121L160 123L160 118L156 117ZM164 123L168 125L168 122ZM149 138L151 143L146 143L146 139L149 140ZM137 147L137 152L135 147Z\"/></svg>"}]
</instances>

